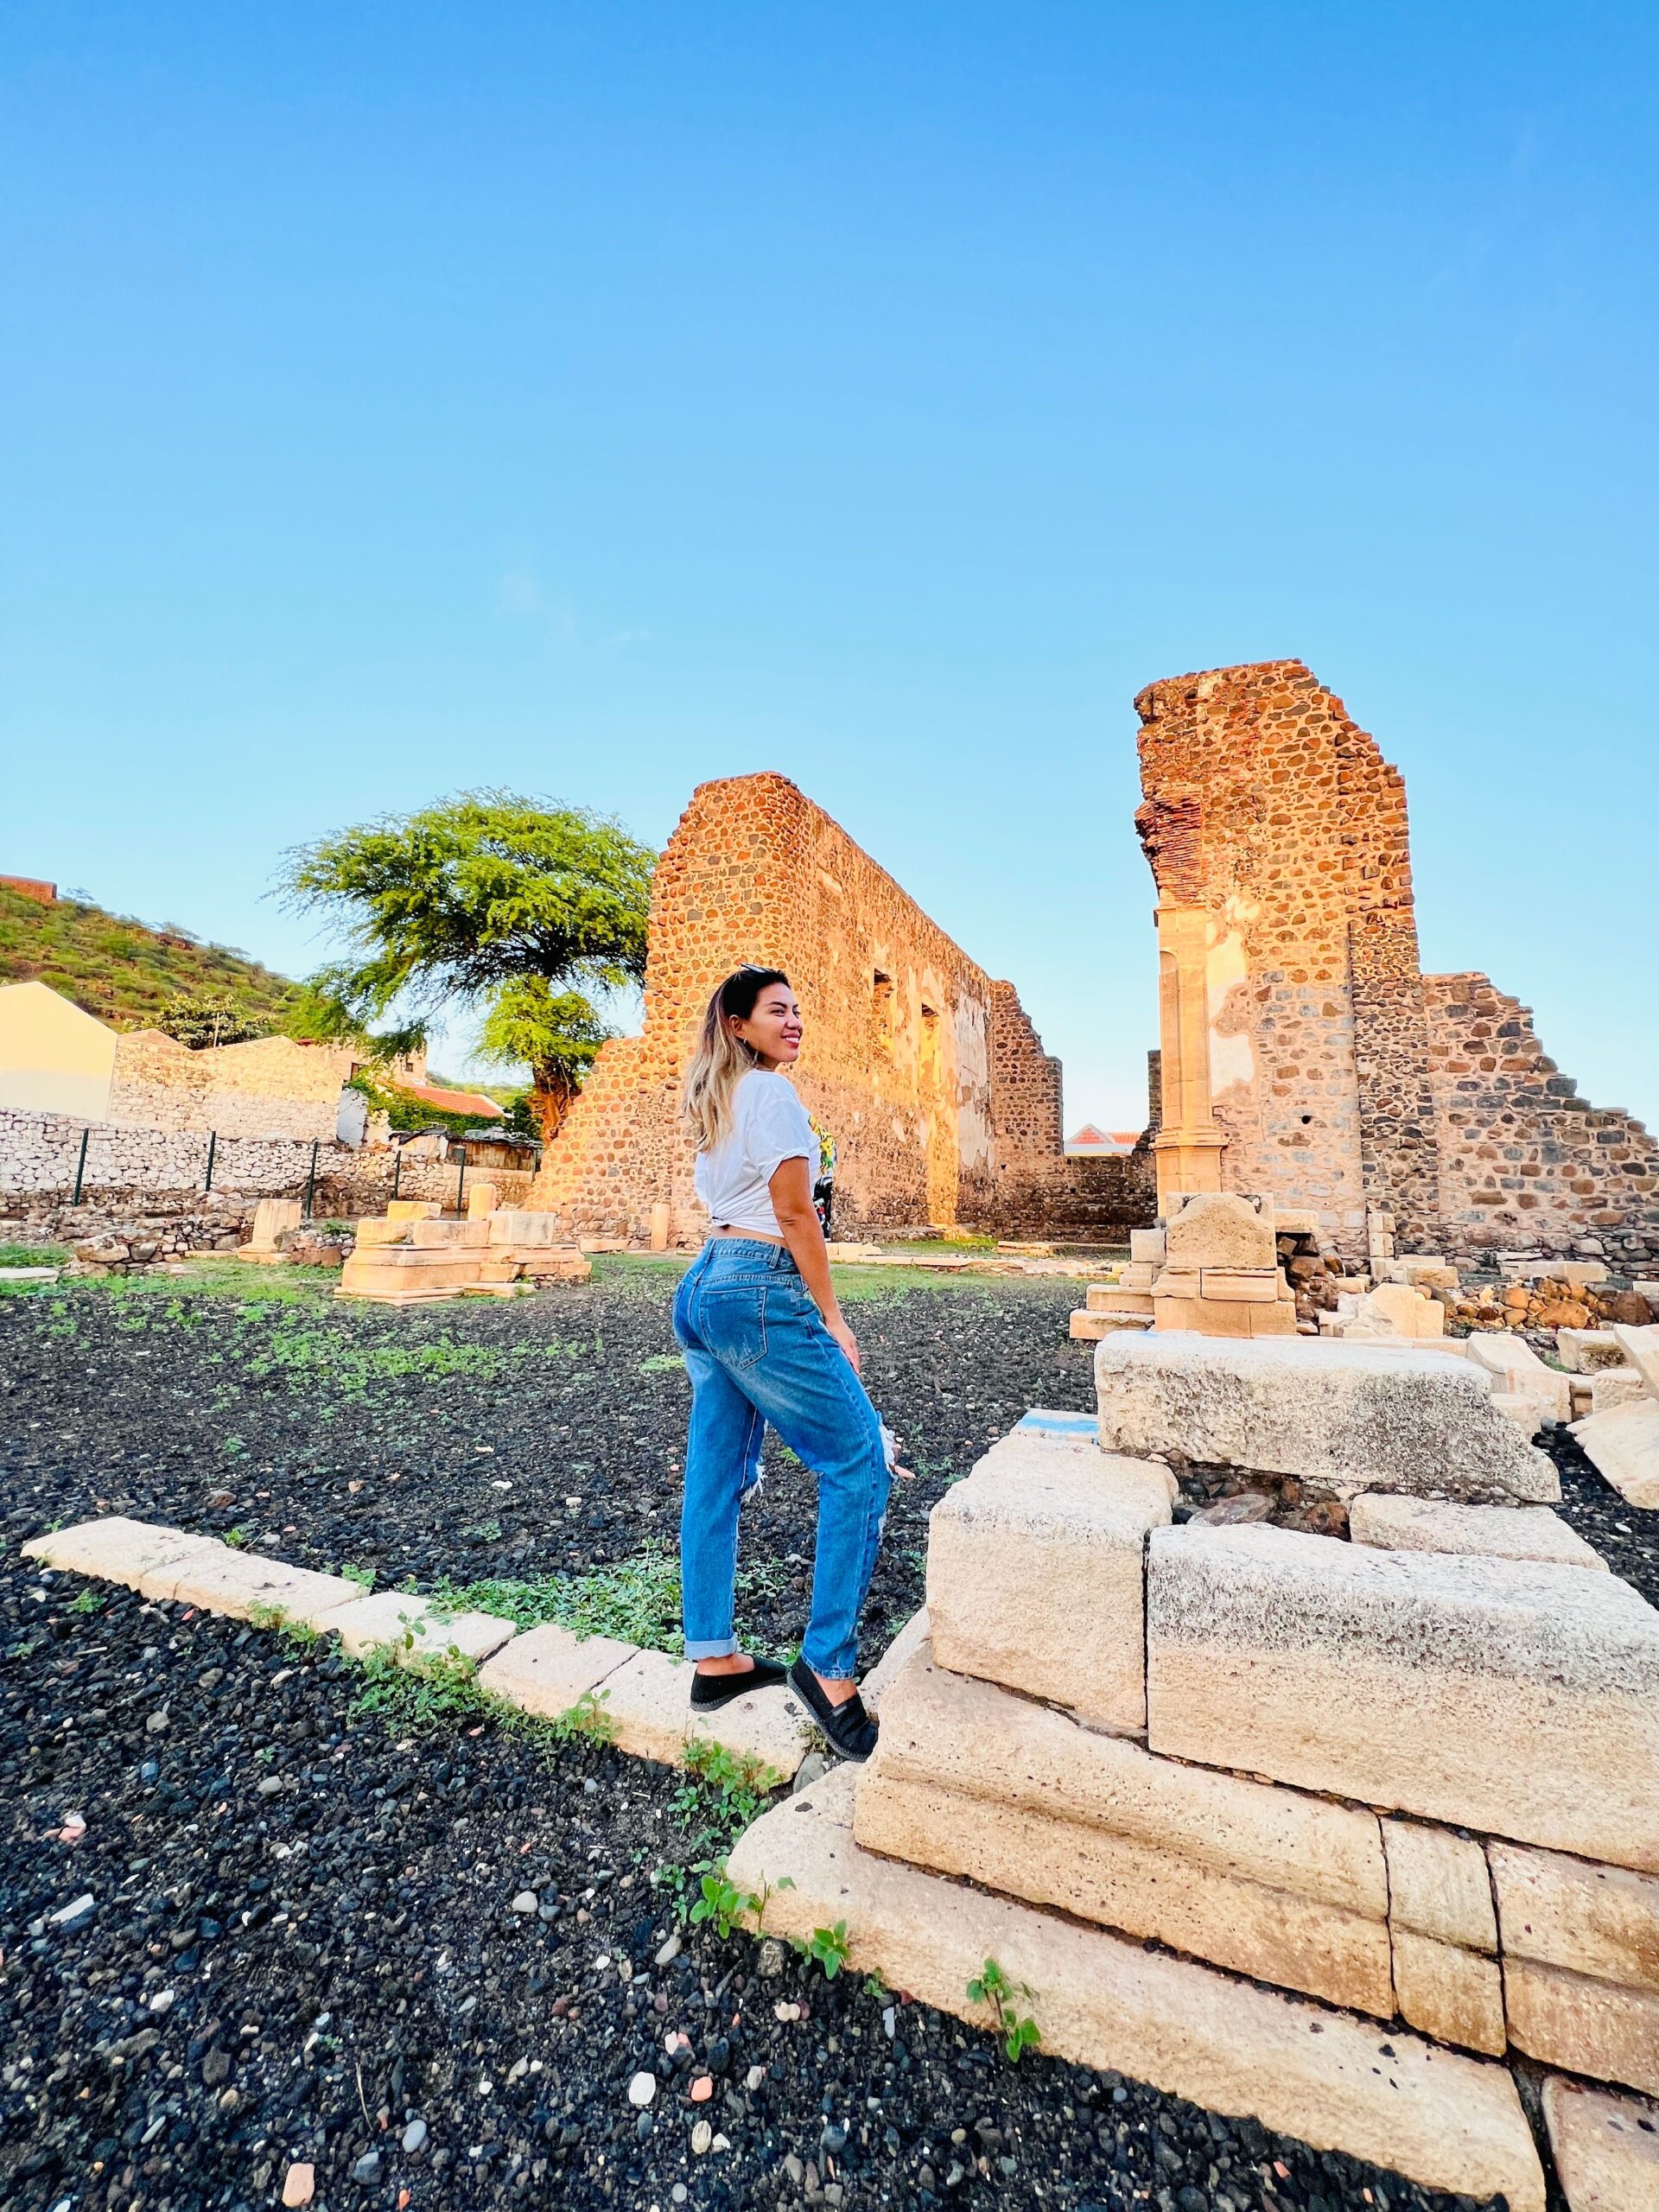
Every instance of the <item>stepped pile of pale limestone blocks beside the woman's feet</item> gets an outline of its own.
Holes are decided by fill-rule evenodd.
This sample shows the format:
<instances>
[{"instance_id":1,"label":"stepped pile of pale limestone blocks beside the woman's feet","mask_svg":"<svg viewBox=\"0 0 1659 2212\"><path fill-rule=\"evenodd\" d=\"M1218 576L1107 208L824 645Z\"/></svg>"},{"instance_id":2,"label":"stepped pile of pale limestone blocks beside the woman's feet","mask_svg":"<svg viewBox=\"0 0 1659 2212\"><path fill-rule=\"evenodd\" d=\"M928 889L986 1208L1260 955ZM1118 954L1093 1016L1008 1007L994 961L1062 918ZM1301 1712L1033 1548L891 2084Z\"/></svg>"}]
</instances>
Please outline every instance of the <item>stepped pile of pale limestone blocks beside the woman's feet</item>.
<instances>
[{"instance_id":1,"label":"stepped pile of pale limestone blocks beside the woman's feet","mask_svg":"<svg viewBox=\"0 0 1659 2212\"><path fill-rule=\"evenodd\" d=\"M1177 1526L1166 1460L1121 1449L1124 1363L1161 1358L1135 1418L1232 1422L1245 1469L1252 1425L1307 1453L1323 1391L1314 1455L1352 1480L1371 1440L1371 1540ZM1170 1332L1097 1367L1119 1449L1035 1413L940 1500L876 1756L730 1878L964 2020L995 1958L1051 2053L1511 2212L1546 2203L1511 2064L1559 2068L1562 2181L1613 2159L1606 2203L1652 2212L1659 1613L1520 1502L1546 1462L1444 1354Z\"/></svg>"}]
</instances>

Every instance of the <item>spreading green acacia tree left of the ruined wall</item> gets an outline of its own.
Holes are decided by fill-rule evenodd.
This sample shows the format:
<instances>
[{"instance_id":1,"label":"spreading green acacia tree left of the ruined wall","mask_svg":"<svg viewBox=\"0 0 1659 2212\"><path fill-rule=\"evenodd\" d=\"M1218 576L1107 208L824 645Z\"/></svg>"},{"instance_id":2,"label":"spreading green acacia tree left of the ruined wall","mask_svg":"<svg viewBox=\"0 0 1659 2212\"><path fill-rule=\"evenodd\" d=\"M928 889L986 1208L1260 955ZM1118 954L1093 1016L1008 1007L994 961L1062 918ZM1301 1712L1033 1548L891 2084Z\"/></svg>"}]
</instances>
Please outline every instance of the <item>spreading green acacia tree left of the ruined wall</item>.
<instances>
[{"instance_id":1,"label":"spreading green acacia tree left of the ruined wall","mask_svg":"<svg viewBox=\"0 0 1659 2212\"><path fill-rule=\"evenodd\" d=\"M343 929L347 958L310 978L294 1026L392 1060L445 1006L482 1011L484 1051L529 1062L553 1137L611 1035L588 991L644 980L653 867L619 823L498 790L301 845L279 885Z\"/></svg>"}]
</instances>

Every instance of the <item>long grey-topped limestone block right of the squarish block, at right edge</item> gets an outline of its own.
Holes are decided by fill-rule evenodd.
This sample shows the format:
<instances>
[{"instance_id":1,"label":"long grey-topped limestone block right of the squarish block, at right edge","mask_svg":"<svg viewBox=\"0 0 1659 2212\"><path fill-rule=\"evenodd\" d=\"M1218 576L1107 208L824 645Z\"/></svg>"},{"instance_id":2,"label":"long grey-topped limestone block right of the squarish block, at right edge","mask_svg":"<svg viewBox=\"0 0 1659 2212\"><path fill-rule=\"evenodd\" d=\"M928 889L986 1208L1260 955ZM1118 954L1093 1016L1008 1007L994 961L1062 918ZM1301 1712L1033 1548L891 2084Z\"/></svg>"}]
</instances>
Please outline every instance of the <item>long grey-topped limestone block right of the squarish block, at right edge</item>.
<instances>
[{"instance_id":1,"label":"long grey-topped limestone block right of the squarish block, at right edge","mask_svg":"<svg viewBox=\"0 0 1659 2212\"><path fill-rule=\"evenodd\" d=\"M1659 1613L1615 1575L1157 1528L1148 1743L1659 1871Z\"/></svg>"}]
</instances>

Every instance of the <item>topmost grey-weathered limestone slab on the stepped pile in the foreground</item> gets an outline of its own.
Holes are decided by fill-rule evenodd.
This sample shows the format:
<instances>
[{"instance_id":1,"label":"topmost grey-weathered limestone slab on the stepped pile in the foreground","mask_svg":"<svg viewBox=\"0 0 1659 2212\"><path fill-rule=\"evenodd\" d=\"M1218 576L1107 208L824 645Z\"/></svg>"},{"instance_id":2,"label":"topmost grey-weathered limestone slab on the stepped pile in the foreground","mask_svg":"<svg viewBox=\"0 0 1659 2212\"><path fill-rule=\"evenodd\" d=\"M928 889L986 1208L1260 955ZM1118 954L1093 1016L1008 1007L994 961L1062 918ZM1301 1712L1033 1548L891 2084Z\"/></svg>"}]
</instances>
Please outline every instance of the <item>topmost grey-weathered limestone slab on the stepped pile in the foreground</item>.
<instances>
[{"instance_id":1,"label":"topmost grey-weathered limestone slab on the stepped pile in the foreground","mask_svg":"<svg viewBox=\"0 0 1659 2212\"><path fill-rule=\"evenodd\" d=\"M1338 1498L1551 1502L1555 1469L1493 1407L1469 1360L1420 1345L1186 1332L1095 1352L1099 1440L1130 1458L1298 1475Z\"/></svg>"}]
</instances>

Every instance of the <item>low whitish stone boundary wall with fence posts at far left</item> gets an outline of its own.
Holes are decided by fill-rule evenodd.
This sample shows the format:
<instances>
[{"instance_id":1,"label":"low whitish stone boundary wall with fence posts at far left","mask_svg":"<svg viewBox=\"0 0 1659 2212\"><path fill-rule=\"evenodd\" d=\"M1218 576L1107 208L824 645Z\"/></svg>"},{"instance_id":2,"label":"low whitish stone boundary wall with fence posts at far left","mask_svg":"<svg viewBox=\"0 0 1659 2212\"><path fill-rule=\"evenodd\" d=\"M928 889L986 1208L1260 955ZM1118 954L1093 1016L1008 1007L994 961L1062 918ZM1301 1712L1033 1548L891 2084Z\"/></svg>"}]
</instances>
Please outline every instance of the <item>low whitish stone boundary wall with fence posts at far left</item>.
<instances>
[{"instance_id":1,"label":"low whitish stone boundary wall with fence posts at far left","mask_svg":"<svg viewBox=\"0 0 1659 2212\"><path fill-rule=\"evenodd\" d=\"M133 1206L168 1192L201 1192L208 1137L192 1130L126 1128L113 1121L75 1121L69 1115L0 1113L0 1199L31 1208L66 1208L75 1188L82 1135L86 1172L82 1199L102 1208ZM212 1192L283 1199L301 1197L312 1172L305 1139L250 1139L219 1135L212 1148ZM314 1212L385 1212L396 1177L405 1199L456 1203L460 1164L405 1159L396 1152L354 1152L338 1144L316 1148ZM533 1177L524 1168L467 1168L467 1183L493 1183L502 1206L522 1203Z\"/></svg>"}]
</instances>

